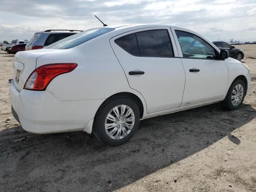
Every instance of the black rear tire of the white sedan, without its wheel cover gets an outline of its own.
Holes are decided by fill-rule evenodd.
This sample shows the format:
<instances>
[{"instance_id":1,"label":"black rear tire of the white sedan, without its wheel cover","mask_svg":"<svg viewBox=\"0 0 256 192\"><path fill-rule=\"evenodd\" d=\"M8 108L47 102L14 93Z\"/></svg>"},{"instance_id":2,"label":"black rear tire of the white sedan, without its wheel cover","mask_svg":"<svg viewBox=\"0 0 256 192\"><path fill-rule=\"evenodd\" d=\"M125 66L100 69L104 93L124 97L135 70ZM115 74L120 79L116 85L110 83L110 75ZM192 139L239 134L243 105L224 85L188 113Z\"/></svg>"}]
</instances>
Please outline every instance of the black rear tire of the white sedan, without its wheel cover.
<instances>
[{"instance_id":1,"label":"black rear tire of the white sedan, without its wheel cover","mask_svg":"<svg viewBox=\"0 0 256 192\"><path fill-rule=\"evenodd\" d=\"M105 120L108 113L116 106L126 105L130 107L134 113L134 126L132 130L122 139L113 139L108 136L105 130ZM140 122L140 111L136 102L126 96L114 96L107 100L98 110L93 124L93 133L98 140L106 145L119 146L122 145L132 138L135 134Z\"/></svg>"}]
</instances>

